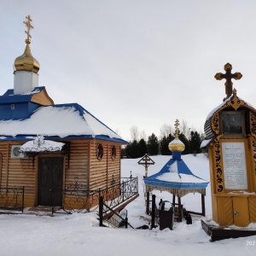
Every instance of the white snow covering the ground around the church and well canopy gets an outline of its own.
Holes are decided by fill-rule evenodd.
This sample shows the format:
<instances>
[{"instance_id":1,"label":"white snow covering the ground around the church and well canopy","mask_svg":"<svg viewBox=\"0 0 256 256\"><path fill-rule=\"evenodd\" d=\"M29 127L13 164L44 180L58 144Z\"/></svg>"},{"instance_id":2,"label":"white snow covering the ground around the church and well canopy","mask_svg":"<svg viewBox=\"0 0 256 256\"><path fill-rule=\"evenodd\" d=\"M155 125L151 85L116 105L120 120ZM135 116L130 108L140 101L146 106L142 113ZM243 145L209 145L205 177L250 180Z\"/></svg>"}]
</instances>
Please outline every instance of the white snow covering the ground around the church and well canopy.
<instances>
[{"instance_id":1,"label":"white snow covering the ground around the church and well canopy","mask_svg":"<svg viewBox=\"0 0 256 256\"><path fill-rule=\"evenodd\" d=\"M148 167L148 176L159 172L170 156L153 156L154 166ZM208 160L204 154L183 155L190 170L209 181ZM139 219L145 213L143 198L144 167L137 160L122 160L122 177L139 178L140 196L126 209L129 222L134 227L145 224ZM155 191L156 201L160 198L172 201L167 192ZM201 211L201 195L185 195L184 207L191 211ZM210 184L206 196L207 218L211 217ZM201 217L192 216L193 224L175 223L173 230L125 230L101 228L96 213L60 214L55 217L27 214L0 214L0 255L255 255L256 236L209 241L209 236L201 229ZM247 241L254 245L247 246Z\"/></svg>"}]
</instances>

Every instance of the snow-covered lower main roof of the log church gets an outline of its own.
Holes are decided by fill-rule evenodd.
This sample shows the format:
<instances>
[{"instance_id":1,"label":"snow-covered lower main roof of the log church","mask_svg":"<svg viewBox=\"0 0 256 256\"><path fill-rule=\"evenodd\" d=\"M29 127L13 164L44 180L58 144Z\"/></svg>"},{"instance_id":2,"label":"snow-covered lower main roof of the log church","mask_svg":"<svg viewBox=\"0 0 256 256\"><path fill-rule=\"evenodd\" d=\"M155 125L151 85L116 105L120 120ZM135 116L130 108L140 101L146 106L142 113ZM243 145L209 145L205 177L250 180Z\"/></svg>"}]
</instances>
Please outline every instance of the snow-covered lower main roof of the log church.
<instances>
[{"instance_id":1,"label":"snow-covered lower main roof of the log church","mask_svg":"<svg viewBox=\"0 0 256 256\"><path fill-rule=\"evenodd\" d=\"M101 137L126 143L77 103L39 107L28 119L0 120L0 139L9 137Z\"/></svg>"}]
</instances>

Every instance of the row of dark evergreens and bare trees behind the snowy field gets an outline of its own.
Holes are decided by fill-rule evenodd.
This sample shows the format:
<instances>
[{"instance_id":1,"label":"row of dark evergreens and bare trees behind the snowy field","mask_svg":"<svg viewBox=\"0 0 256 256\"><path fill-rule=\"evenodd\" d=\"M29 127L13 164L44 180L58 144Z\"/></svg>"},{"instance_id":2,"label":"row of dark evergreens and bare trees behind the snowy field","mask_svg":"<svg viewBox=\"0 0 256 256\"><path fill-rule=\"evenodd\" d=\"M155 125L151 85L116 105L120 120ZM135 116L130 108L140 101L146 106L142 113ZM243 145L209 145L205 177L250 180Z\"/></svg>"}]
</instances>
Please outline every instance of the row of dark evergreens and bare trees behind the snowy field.
<instances>
[{"instance_id":1,"label":"row of dark evergreens and bare trees behind the snowy field","mask_svg":"<svg viewBox=\"0 0 256 256\"><path fill-rule=\"evenodd\" d=\"M158 138L154 133L146 137L144 132L139 133L137 126L132 126L131 141L122 148L122 157L125 158L139 158L144 154L148 155L171 155L169 150L169 143L174 140L175 131L171 125L162 125L160 129L160 137ZM182 122L180 129L178 129L179 140L185 145L182 154L199 154L201 153L201 142L204 139L204 134L189 128L185 121Z\"/></svg>"}]
</instances>

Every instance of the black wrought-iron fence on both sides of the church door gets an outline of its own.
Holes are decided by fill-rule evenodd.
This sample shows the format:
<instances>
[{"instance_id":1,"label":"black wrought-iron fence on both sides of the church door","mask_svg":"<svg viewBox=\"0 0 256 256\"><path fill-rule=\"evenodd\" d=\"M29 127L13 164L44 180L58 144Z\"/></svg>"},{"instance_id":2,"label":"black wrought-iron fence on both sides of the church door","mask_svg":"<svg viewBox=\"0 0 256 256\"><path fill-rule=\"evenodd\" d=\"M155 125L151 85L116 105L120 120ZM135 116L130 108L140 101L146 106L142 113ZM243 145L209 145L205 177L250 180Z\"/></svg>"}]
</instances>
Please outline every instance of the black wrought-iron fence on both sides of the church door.
<instances>
[{"instance_id":1,"label":"black wrought-iron fence on both sides of the church door","mask_svg":"<svg viewBox=\"0 0 256 256\"><path fill-rule=\"evenodd\" d=\"M54 213L73 212L97 212L100 197L108 207L118 207L138 193L137 177L123 177L120 183L113 183L108 188L88 190L79 183L79 177L75 177L73 183L67 185L66 189L49 189L50 206ZM0 188L0 209L20 210L24 209L24 187ZM55 203L55 193L62 193L62 205ZM108 210L104 210L106 214Z\"/></svg>"}]
</instances>

